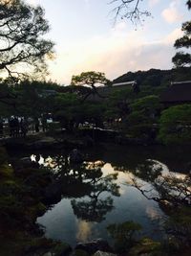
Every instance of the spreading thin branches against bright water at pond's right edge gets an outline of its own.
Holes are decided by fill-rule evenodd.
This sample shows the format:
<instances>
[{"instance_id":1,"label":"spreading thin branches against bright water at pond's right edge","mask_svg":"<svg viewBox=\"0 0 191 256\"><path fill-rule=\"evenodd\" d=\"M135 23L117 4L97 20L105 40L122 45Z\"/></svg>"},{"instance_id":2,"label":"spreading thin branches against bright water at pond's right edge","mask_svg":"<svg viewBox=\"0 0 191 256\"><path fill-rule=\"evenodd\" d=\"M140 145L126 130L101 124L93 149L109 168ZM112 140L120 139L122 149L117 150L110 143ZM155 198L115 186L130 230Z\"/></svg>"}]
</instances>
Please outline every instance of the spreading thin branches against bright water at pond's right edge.
<instances>
[{"instance_id":1,"label":"spreading thin branches against bright water at pond's right edge","mask_svg":"<svg viewBox=\"0 0 191 256\"><path fill-rule=\"evenodd\" d=\"M146 198L173 207L191 204L190 175L163 172L161 164L154 160L139 164L134 175L133 186Z\"/></svg>"}]
</instances>

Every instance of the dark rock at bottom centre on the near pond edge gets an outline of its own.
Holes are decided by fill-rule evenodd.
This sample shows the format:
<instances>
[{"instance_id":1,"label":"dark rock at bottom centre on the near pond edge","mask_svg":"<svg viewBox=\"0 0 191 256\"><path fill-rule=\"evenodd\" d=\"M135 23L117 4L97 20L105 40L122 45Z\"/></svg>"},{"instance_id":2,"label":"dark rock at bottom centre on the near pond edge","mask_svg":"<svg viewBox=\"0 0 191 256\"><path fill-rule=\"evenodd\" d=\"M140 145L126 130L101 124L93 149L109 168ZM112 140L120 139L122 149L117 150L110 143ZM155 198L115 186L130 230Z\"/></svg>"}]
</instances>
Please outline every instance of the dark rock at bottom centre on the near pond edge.
<instances>
[{"instance_id":1,"label":"dark rock at bottom centre on the near pond edge","mask_svg":"<svg viewBox=\"0 0 191 256\"><path fill-rule=\"evenodd\" d=\"M95 241L87 243L79 243L75 246L75 249L85 250L90 254L96 253L97 250L109 252L113 251L113 249L110 247L107 241L104 241L102 239L97 239Z\"/></svg>"}]
</instances>

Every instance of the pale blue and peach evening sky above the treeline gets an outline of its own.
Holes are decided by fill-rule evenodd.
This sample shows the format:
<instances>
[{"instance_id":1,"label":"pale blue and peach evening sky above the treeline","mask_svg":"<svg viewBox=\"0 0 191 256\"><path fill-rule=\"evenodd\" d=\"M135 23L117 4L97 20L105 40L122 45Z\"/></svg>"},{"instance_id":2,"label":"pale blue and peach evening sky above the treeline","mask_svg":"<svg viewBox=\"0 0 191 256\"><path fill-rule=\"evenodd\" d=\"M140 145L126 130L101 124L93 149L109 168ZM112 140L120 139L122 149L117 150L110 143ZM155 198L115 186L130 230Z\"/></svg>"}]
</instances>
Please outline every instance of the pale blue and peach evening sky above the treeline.
<instances>
[{"instance_id":1,"label":"pale blue and peach evening sky above the treeline","mask_svg":"<svg viewBox=\"0 0 191 256\"><path fill-rule=\"evenodd\" d=\"M143 24L114 22L111 0L26 0L41 5L55 43L48 79L70 84L73 75L104 72L114 80L129 71L172 68L173 44L181 23L190 19L185 0L143 0L152 13Z\"/></svg>"}]
</instances>

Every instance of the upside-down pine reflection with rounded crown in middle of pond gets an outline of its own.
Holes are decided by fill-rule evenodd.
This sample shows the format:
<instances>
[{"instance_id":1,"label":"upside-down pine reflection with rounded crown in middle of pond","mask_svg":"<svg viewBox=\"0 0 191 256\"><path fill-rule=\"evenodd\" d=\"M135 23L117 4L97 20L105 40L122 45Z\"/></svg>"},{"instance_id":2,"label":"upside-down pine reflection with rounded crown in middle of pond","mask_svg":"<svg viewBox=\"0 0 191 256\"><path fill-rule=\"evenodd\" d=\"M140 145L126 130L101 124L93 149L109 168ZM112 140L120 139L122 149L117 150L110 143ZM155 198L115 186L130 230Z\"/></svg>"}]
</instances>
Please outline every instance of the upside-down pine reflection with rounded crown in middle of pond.
<instances>
[{"instance_id":1,"label":"upside-down pine reflection with rounded crown in middle of pond","mask_svg":"<svg viewBox=\"0 0 191 256\"><path fill-rule=\"evenodd\" d=\"M91 185L88 198L77 201L72 200L74 215L85 221L103 221L105 215L110 212L113 206L113 198L99 198L104 192L110 193L112 196L119 196L115 180L117 174L103 176L101 167L103 163L88 163L86 173L87 182Z\"/></svg>"}]
</instances>

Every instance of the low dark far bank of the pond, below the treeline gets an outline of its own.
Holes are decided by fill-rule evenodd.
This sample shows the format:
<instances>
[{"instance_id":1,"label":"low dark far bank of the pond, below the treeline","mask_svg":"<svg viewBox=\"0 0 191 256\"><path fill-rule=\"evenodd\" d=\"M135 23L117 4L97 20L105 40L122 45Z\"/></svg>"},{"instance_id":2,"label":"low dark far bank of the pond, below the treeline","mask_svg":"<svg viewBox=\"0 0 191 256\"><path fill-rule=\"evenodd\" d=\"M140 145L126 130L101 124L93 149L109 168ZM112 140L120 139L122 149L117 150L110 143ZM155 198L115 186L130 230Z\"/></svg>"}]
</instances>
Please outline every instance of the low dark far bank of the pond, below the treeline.
<instances>
[{"instance_id":1,"label":"low dark far bank of the pond, below the treeline","mask_svg":"<svg viewBox=\"0 0 191 256\"><path fill-rule=\"evenodd\" d=\"M116 130L101 128L83 128L74 132L59 130L53 132L39 132L29 134L27 137L6 137L0 139L0 145L7 149L43 150L43 149L74 149L87 148L97 143L114 143L117 145L149 146L159 145L154 139L128 138Z\"/></svg>"}]
</instances>

